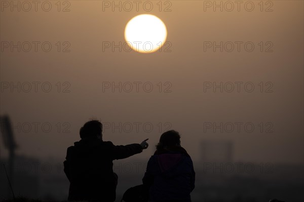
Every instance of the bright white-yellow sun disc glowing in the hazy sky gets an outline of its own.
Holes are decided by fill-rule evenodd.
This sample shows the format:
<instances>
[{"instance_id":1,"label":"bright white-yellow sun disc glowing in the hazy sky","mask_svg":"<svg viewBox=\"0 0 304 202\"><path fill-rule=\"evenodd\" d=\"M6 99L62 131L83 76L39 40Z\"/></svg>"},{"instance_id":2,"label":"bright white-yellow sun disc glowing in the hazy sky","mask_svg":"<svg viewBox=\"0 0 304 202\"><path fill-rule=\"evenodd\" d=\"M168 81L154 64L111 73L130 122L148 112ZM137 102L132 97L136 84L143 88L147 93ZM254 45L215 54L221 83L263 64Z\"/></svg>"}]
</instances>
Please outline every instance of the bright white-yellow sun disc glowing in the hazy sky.
<instances>
[{"instance_id":1,"label":"bright white-yellow sun disc glowing in the hazy sky","mask_svg":"<svg viewBox=\"0 0 304 202\"><path fill-rule=\"evenodd\" d=\"M135 16L126 25L126 42L134 51L139 53L158 51L164 45L166 38L166 25L154 15Z\"/></svg>"}]
</instances>

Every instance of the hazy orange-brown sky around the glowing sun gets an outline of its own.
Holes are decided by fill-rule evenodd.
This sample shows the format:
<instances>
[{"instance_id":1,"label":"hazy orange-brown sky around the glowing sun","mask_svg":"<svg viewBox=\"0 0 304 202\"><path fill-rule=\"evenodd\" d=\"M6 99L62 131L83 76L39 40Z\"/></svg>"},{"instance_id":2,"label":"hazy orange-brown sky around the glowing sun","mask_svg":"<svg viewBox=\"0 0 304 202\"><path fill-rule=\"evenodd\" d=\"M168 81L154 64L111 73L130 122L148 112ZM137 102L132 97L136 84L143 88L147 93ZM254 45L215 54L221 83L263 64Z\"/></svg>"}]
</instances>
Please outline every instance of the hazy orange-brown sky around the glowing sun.
<instances>
[{"instance_id":1,"label":"hazy orange-brown sky around the glowing sun","mask_svg":"<svg viewBox=\"0 0 304 202\"><path fill-rule=\"evenodd\" d=\"M106 126L104 140L149 138L142 159L170 128L194 160L202 141L230 140L234 161L303 163L302 1L242 1L239 8L231 1L234 9L224 1L223 11L213 1L163 1L161 8L151 1L151 11L145 2L138 11L133 1L131 11L124 1L116 1L121 11L112 1L66 1L60 8L56 2L37 11L19 2L17 11L1 1L0 114L14 123L18 154L63 159L80 127L97 118ZM167 49L104 49L106 42L124 44L128 21L146 13L165 23ZM18 82L20 89L11 88ZM119 82L121 92L112 89ZM213 88L221 84L222 92Z\"/></svg>"}]
</instances>

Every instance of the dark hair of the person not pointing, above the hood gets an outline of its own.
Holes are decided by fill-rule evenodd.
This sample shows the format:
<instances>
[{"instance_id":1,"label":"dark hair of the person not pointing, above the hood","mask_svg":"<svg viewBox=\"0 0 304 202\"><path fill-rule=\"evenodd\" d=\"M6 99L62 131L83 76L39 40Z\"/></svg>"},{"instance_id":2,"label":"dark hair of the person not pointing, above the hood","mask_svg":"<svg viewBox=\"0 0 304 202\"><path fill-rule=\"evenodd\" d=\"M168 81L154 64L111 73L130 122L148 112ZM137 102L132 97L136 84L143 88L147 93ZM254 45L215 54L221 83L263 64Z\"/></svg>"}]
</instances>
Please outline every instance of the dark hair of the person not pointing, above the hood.
<instances>
[{"instance_id":1,"label":"dark hair of the person not pointing, above the hood","mask_svg":"<svg viewBox=\"0 0 304 202\"><path fill-rule=\"evenodd\" d=\"M169 130L161 135L160 142L156 145L156 149L164 149L165 147L180 146L180 135L175 130Z\"/></svg>"}]
</instances>

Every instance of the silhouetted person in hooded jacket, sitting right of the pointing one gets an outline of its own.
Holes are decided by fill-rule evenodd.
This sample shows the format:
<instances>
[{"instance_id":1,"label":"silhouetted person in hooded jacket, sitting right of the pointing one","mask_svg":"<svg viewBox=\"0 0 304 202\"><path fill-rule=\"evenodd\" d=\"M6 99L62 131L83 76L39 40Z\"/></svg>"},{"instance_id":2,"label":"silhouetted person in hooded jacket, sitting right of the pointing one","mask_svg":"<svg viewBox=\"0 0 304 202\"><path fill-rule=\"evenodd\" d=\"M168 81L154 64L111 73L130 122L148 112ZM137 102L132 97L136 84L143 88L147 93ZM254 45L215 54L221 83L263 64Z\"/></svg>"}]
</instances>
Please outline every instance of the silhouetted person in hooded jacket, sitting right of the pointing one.
<instances>
[{"instance_id":1,"label":"silhouetted person in hooded jacket, sitting right of the pointing one","mask_svg":"<svg viewBox=\"0 0 304 202\"><path fill-rule=\"evenodd\" d=\"M191 201L195 171L191 157L180 146L178 132L170 130L161 135L157 150L148 161L142 182L149 190L149 201Z\"/></svg>"}]
</instances>

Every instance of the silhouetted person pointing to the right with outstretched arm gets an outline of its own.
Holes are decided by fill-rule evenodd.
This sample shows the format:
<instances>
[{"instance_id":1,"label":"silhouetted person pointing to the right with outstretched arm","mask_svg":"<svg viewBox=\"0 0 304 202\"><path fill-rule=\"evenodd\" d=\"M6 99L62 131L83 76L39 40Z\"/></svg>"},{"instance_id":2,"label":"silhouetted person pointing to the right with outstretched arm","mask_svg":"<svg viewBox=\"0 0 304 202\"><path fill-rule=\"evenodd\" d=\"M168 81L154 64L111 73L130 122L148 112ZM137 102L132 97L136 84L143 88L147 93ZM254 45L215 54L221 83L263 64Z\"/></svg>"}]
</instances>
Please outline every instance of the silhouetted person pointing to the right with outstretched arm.
<instances>
[{"instance_id":1,"label":"silhouetted person pointing to the right with outstretched arm","mask_svg":"<svg viewBox=\"0 0 304 202\"><path fill-rule=\"evenodd\" d=\"M67 148L63 163L70 182L68 201L115 201L118 176L112 161L141 153L148 147L148 139L140 144L115 146L102 140L102 124L95 120L85 123L80 137Z\"/></svg>"}]
</instances>

